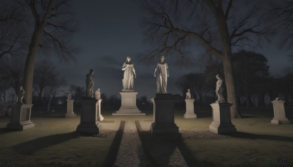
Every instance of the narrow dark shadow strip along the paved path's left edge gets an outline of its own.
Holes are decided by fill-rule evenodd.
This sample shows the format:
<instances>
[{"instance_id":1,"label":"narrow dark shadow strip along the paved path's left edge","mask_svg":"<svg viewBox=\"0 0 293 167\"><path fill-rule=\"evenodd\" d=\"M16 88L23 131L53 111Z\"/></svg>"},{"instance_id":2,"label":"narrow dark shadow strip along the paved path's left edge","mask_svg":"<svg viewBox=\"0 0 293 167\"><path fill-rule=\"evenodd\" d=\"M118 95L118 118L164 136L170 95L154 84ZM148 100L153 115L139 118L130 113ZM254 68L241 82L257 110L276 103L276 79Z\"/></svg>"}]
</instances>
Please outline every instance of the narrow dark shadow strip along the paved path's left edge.
<instances>
[{"instance_id":1,"label":"narrow dark shadow strip along the paved path's left edge","mask_svg":"<svg viewBox=\"0 0 293 167\"><path fill-rule=\"evenodd\" d=\"M113 167L113 165L114 165L114 162L115 162L118 150L119 150L119 146L121 143L124 127L125 127L125 121L121 121L119 129L115 134L111 148L109 150L108 157L105 161L105 167Z\"/></svg>"}]
</instances>

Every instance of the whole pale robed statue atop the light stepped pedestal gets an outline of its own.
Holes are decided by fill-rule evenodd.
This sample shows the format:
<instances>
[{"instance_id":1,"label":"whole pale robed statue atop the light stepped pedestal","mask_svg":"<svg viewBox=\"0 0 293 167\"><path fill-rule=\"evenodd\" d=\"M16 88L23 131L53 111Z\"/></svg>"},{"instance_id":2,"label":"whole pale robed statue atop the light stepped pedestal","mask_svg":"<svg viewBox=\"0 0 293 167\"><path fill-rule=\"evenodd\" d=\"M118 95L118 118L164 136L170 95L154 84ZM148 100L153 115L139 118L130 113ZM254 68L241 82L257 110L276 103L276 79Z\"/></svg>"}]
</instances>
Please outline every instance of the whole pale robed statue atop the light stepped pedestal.
<instances>
[{"instance_id":1,"label":"whole pale robed statue atop the light stepped pedestal","mask_svg":"<svg viewBox=\"0 0 293 167\"><path fill-rule=\"evenodd\" d=\"M136 73L134 69L134 65L131 62L131 57L127 56L126 57L126 62L122 66L122 70L124 71L123 75L123 90L127 91L132 91L133 90L133 76L136 78Z\"/></svg>"}]
</instances>

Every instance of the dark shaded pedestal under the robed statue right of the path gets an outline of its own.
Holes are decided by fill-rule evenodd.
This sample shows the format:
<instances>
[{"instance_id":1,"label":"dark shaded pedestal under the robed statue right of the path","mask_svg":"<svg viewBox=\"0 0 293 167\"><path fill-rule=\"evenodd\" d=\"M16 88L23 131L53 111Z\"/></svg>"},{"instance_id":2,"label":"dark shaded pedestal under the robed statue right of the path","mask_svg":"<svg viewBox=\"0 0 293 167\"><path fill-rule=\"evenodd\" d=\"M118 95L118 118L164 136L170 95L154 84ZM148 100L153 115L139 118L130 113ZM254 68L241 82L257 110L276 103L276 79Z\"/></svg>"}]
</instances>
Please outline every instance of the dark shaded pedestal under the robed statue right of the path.
<instances>
[{"instance_id":1,"label":"dark shaded pedestal under the robed statue right of the path","mask_svg":"<svg viewBox=\"0 0 293 167\"><path fill-rule=\"evenodd\" d=\"M174 105L176 97L172 94L156 94L152 98L154 106L154 122L150 126L151 134L179 134L179 128L174 123Z\"/></svg>"}]
</instances>

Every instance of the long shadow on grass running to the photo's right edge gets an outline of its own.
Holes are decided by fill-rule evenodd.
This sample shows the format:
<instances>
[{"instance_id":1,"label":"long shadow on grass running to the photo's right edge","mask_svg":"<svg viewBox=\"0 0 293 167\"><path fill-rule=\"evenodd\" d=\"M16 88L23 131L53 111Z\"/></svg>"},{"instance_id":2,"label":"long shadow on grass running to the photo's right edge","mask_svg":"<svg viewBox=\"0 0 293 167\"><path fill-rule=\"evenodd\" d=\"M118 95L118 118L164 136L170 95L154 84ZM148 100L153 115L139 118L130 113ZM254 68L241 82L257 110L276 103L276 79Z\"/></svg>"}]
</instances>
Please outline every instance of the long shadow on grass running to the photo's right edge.
<instances>
[{"instance_id":1,"label":"long shadow on grass running to the photo's right edge","mask_svg":"<svg viewBox=\"0 0 293 167\"><path fill-rule=\"evenodd\" d=\"M276 140L276 141L286 141L291 142L293 141L293 137L285 137L285 136L274 136L274 135L264 135L264 134L252 134L252 133L245 133L245 132L235 132L229 134L232 137L237 138L246 138L246 139L266 139L266 140Z\"/></svg>"}]
</instances>

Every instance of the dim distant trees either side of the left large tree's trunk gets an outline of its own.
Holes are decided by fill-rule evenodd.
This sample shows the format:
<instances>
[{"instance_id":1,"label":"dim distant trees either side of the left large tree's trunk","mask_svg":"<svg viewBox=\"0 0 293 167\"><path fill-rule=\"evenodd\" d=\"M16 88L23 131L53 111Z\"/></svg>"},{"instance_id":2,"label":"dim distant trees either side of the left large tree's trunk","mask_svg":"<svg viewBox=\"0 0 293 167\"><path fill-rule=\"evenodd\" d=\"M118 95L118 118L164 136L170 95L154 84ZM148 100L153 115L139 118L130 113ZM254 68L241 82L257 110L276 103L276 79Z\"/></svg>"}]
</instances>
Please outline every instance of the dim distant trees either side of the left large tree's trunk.
<instances>
[{"instance_id":1,"label":"dim distant trees either side of the left large tree's trunk","mask_svg":"<svg viewBox=\"0 0 293 167\"><path fill-rule=\"evenodd\" d=\"M0 94L4 103L16 103L23 80L24 63L20 57L2 57L1 59ZM33 83L33 104L38 107L56 105L56 97L63 93L66 86L64 76L56 72L56 66L44 59L36 63ZM8 91L10 88L13 91ZM10 94L6 94L9 92ZM8 97L8 99L7 99ZM24 101L25 102L25 101Z\"/></svg>"}]
</instances>

